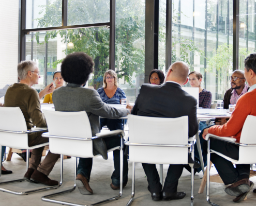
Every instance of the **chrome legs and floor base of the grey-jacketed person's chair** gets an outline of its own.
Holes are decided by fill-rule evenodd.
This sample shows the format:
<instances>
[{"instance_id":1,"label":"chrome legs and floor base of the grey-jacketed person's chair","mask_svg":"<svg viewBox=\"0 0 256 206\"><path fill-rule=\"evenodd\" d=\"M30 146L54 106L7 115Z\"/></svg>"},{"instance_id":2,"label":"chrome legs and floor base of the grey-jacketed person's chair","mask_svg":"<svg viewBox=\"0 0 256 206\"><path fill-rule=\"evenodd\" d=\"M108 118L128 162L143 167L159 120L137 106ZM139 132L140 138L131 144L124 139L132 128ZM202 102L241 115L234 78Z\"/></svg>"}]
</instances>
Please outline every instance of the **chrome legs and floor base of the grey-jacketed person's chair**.
<instances>
[{"instance_id":1,"label":"chrome legs and floor base of the grey-jacketed person's chair","mask_svg":"<svg viewBox=\"0 0 256 206\"><path fill-rule=\"evenodd\" d=\"M66 190L66 191L63 191L63 192L59 192L59 193L54 193L54 194L51 194L51 195L46 195L46 196L43 196L41 197L41 199L43 201L47 201L47 202L53 202L53 203L58 203L58 204L65 204L65 205L70 205L70 206L95 206L95 205L98 205L98 204L102 204L102 203L106 203L106 202L109 202L109 201L112 201L112 200L117 200L119 199L122 195L123 195L123 162L124 162L124 152L123 152L123 148L124 148L124 141L123 141L123 138L121 138L121 146L120 146L120 192L119 192L119 195L118 196L115 196L115 197L112 197L112 198L109 198L109 199L106 199L106 200L103 200L103 201L100 201L100 202L96 202L96 203L93 203L93 204L75 204L75 203L72 203L72 202L65 202L65 201L58 201L58 200L54 200L54 199L49 199L50 197L53 197L53 196L57 196L57 195L61 195L61 194L65 194L65 193L69 193L69 192L72 192L76 189L76 176L77 176L77 158L76 158L76 161L74 163L74 186L73 188L69 189L69 190Z\"/></svg>"}]
</instances>

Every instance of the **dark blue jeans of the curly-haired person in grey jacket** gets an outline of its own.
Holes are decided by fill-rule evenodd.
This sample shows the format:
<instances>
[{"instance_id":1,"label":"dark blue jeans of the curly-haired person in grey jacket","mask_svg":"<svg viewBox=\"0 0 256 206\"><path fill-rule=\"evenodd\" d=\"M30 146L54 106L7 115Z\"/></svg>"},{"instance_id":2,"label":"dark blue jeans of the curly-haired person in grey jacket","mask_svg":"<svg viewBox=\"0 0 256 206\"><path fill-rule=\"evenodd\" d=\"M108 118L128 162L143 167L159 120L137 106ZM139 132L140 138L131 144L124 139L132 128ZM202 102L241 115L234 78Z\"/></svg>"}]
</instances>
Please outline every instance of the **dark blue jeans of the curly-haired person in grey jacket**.
<instances>
[{"instance_id":1,"label":"dark blue jeans of the curly-haired person in grey jacket","mask_svg":"<svg viewBox=\"0 0 256 206\"><path fill-rule=\"evenodd\" d=\"M121 145L121 140L119 136L110 136L109 138L104 138L106 142L107 149L111 149L116 146ZM125 149L125 145L124 145ZM114 155L114 168L113 174L111 176L112 184L114 186L120 185L120 150L116 149L113 151ZM127 156L124 156L124 169L123 169L123 184L128 182L128 161ZM78 174L83 175L89 182L91 177L91 171L93 167L93 158L80 158L78 164Z\"/></svg>"}]
</instances>

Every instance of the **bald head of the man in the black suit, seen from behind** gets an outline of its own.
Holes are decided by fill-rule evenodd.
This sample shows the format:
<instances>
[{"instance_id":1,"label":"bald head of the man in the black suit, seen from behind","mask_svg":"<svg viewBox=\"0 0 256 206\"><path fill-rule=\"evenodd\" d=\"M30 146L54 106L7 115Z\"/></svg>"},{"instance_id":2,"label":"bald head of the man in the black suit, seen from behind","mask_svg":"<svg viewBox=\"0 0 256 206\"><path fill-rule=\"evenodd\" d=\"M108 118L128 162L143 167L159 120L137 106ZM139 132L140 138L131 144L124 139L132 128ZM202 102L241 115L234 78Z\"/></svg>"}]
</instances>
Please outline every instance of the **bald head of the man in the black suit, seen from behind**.
<instances>
[{"instance_id":1,"label":"bald head of the man in the black suit, seen from behind","mask_svg":"<svg viewBox=\"0 0 256 206\"><path fill-rule=\"evenodd\" d=\"M188 79L188 73L189 67L185 62L175 62L169 67L165 81L176 81L183 85Z\"/></svg>"}]
</instances>

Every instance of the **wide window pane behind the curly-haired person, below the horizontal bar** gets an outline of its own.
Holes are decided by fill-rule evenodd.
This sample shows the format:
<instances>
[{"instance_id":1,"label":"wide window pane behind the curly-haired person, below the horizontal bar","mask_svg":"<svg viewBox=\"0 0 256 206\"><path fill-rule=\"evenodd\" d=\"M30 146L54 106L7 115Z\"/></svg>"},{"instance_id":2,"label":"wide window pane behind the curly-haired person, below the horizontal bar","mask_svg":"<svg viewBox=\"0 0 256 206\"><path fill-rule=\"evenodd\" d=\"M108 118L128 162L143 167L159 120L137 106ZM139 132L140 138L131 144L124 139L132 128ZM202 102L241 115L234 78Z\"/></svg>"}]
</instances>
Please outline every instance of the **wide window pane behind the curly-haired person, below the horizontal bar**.
<instances>
[{"instance_id":1,"label":"wide window pane behind the curly-haired person, below the horizontal bar","mask_svg":"<svg viewBox=\"0 0 256 206\"><path fill-rule=\"evenodd\" d=\"M103 74L109 68L109 29L106 27L26 35L26 60L36 61L41 74L35 88L41 90L51 83L53 73L61 70L62 60L73 52L85 52L94 59L94 73L88 81L88 87L102 87Z\"/></svg>"}]
</instances>

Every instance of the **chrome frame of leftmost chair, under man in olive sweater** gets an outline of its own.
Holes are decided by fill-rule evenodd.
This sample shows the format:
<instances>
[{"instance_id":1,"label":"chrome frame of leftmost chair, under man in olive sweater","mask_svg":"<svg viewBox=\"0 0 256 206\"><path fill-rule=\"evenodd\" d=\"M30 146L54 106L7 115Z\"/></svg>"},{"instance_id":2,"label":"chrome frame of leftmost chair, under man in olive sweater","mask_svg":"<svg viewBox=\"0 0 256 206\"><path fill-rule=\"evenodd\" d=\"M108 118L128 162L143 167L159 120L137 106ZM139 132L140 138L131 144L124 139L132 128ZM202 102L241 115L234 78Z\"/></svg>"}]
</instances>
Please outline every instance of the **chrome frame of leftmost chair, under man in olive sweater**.
<instances>
[{"instance_id":1,"label":"chrome frame of leftmost chair, under man in olive sweater","mask_svg":"<svg viewBox=\"0 0 256 206\"><path fill-rule=\"evenodd\" d=\"M13 133L13 134L30 134L30 133L44 132L44 131L48 131L48 130L47 129L27 130L27 131L0 130L0 132ZM39 147L46 146L48 144L49 143L35 145L35 146L32 146L32 147L29 147L29 149L36 149L36 148L39 148ZM26 149L27 150L27 161L26 161L27 169L28 169L28 166L29 166L29 149ZM1 145L0 146L0 159L1 159L0 162L1 162L1 165L2 165L2 158L3 157L2 157L2 145ZM61 156L61 158L63 160L63 156ZM2 170L0 170L0 177L1 177L1 175L2 175ZM11 180L11 181L7 181L7 182L0 182L0 185L14 183L14 182L22 182L22 181L25 181L25 179L23 178L23 179ZM34 193L34 192L46 191L46 190L51 190L51 189L54 189L54 188L58 188L62 185L62 182L63 182L63 165L61 163L61 181L59 182L58 185L43 187L43 188L39 188L37 190L24 191L24 192L11 191L11 190L7 190L7 189L4 189L4 188L0 188L0 191L11 193L11 194L14 194L14 195L28 195L28 194Z\"/></svg>"}]
</instances>

